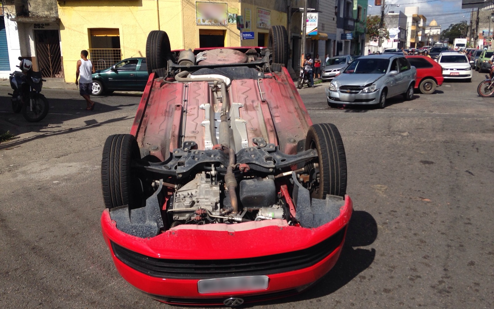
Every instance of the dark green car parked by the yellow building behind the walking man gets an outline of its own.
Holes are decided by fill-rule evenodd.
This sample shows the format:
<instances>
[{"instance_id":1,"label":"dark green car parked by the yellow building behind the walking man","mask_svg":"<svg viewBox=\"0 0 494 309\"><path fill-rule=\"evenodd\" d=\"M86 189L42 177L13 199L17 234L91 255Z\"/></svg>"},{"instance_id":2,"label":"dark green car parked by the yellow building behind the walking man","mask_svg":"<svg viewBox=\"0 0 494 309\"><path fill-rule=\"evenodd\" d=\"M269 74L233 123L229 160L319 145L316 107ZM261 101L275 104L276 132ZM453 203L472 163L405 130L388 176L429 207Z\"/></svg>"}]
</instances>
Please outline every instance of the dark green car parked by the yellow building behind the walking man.
<instances>
[{"instance_id":1,"label":"dark green car parked by the yellow building behind the walking man","mask_svg":"<svg viewBox=\"0 0 494 309\"><path fill-rule=\"evenodd\" d=\"M127 58L93 73L93 95L103 95L113 91L144 91L149 74L146 58Z\"/></svg>"}]
</instances>

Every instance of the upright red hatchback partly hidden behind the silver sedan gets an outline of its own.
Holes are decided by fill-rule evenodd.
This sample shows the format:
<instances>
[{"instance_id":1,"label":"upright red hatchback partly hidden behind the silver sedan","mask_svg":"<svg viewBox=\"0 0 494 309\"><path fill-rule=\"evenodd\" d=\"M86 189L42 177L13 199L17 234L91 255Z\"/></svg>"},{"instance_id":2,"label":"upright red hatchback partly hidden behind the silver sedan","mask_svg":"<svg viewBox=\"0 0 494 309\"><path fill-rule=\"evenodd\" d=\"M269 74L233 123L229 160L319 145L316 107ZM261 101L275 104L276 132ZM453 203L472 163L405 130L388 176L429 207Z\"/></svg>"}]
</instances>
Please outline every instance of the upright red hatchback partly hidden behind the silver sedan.
<instances>
[{"instance_id":1,"label":"upright red hatchback partly hidden behind the silver sedan","mask_svg":"<svg viewBox=\"0 0 494 309\"><path fill-rule=\"evenodd\" d=\"M415 89L423 94L432 94L436 87L444 81L443 67L426 56L405 56L412 66L417 69Z\"/></svg>"}]
</instances>

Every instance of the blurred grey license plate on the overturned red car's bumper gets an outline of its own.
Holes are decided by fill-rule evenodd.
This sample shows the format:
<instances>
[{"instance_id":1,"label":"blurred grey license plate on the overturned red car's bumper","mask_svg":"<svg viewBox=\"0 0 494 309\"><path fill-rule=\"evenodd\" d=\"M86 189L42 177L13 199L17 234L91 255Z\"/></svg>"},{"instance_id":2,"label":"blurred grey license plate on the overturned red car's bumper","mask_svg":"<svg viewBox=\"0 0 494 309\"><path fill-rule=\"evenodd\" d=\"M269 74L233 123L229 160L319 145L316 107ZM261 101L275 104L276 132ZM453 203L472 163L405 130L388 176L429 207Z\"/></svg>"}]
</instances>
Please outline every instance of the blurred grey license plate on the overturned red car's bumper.
<instances>
[{"instance_id":1,"label":"blurred grey license plate on the overturned red car's bumper","mask_svg":"<svg viewBox=\"0 0 494 309\"><path fill-rule=\"evenodd\" d=\"M267 276L243 276L204 279L197 282L199 293L245 292L268 288Z\"/></svg>"}]
</instances>

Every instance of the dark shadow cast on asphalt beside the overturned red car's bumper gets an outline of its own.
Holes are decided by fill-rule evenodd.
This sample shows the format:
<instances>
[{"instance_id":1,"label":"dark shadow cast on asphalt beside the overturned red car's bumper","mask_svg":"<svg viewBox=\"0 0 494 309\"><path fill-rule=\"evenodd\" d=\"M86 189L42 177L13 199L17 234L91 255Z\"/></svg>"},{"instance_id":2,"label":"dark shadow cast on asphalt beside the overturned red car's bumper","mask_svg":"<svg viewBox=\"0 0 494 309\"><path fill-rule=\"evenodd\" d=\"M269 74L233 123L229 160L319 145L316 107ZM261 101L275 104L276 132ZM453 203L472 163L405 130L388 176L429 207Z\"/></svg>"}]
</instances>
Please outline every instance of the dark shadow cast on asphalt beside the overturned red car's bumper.
<instances>
[{"instance_id":1,"label":"dark shadow cast on asphalt beside the overturned red car's bumper","mask_svg":"<svg viewBox=\"0 0 494 309\"><path fill-rule=\"evenodd\" d=\"M334 293L371 266L376 254L375 249L354 247L369 246L376 238L377 223L372 215L366 211L354 211L348 225L345 244L334 267L306 292L288 298L263 302L262 305L312 300ZM259 304L261 303L247 304L242 308L250 308Z\"/></svg>"}]
</instances>

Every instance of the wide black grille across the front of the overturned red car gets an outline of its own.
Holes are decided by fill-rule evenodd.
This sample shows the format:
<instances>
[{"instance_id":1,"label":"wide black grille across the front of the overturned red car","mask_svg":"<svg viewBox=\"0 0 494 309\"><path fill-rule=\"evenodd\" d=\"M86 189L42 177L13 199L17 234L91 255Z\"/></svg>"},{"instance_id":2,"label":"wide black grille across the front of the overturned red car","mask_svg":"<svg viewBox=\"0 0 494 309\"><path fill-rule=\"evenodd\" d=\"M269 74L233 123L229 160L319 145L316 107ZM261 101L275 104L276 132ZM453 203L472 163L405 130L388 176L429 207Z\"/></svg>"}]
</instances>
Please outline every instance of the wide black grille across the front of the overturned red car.
<instances>
[{"instance_id":1,"label":"wide black grille across the front of the overturned red car","mask_svg":"<svg viewBox=\"0 0 494 309\"><path fill-rule=\"evenodd\" d=\"M286 272L312 266L333 252L343 241L345 228L303 250L230 260L178 260L148 257L113 241L115 256L127 266L161 278L213 278Z\"/></svg>"}]
</instances>

